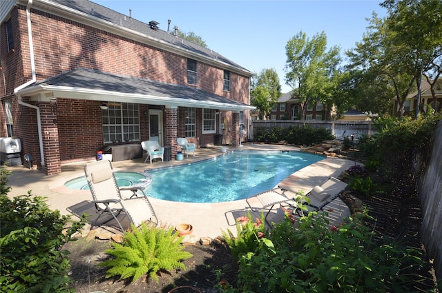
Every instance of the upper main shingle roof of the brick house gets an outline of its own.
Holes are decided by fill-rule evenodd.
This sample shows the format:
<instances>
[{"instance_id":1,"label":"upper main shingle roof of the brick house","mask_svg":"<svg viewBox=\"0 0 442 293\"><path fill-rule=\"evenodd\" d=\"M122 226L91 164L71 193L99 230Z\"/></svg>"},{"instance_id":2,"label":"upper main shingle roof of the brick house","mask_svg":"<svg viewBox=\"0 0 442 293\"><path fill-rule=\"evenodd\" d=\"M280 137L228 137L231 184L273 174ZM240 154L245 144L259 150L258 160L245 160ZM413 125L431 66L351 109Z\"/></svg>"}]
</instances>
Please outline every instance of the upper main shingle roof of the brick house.
<instances>
[{"instance_id":1,"label":"upper main shingle roof of the brick house","mask_svg":"<svg viewBox=\"0 0 442 293\"><path fill-rule=\"evenodd\" d=\"M239 70L245 70L249 72L249 70L243 68L242 66L234 63L233 61L223 57L221 54L209 49L199 46L198 44L192 43L190 41L186 41L175 35L166 32L164 30L153 30L147 23L142 21L138 21L133 17L128 17L122 13L116 12L104 6L101 6L97 3L88 0L50 0L55 3L59 3L60 5L66 6L68 8L73 8L80 12L84 12L85 14L93 15L94 17L98 17L99 19L103 19L104 21L109 21L111 23L116 24L117 26L123 26L124 28L128 28L134 30L136 32L140 32L142 34L146 34L147 36L154 37L155 39L159 39L161 41L165 41L172 46L177 46L179 48L189 50L196 54L201 54L204 57L209 57L211 59L215 59L217 61L221 61L227 63L228 65L233 66L234 68L238 68ZM153 16L155 18L155 16Z\"/></svg>"}]
</instances>

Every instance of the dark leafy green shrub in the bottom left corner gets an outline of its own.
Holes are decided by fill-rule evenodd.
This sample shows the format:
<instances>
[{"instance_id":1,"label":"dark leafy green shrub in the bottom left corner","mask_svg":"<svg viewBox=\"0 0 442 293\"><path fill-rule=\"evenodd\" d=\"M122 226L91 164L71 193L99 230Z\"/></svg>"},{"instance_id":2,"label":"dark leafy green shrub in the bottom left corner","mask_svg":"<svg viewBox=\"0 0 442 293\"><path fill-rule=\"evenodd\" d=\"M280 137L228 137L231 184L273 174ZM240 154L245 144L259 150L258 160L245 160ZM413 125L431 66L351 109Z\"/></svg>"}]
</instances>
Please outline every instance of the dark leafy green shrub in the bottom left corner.
<instances>
[{"instance_id":1,"label":"dark leafy green shrub in the bottom left corner","mask_svg":"<svg viewBox=\"0 0 442 293\"><path fill-rule=\"evenodd\" d=\"M69 252L61 248L86 220L72 222L30 192L9 199L8 174L0 168L1 292L70 292Z\"/></svg>"}]
</instances>

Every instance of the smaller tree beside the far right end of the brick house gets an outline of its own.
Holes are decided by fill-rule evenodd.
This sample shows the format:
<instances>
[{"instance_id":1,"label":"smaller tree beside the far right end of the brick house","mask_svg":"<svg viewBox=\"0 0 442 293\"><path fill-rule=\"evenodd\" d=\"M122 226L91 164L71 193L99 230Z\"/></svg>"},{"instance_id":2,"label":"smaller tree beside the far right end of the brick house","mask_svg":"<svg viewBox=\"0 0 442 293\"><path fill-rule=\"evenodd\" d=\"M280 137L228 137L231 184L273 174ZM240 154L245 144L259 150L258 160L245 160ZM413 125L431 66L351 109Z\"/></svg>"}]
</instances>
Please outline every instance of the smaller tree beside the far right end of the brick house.
<instances>
[{"instance_id":1,"label":"smaller tree beside the far right end of the brick house","mask_svg":"<svg viewBox=\"0 0 442 293\"><path fill-rule=\"evenodd\" d=\"M266 119L267 113L281 97L281 85L276 70L273 68L262 69L259 74L255 74L250 95L251 105L258 108L259 118Z\"/></svg>"}]
</instances>

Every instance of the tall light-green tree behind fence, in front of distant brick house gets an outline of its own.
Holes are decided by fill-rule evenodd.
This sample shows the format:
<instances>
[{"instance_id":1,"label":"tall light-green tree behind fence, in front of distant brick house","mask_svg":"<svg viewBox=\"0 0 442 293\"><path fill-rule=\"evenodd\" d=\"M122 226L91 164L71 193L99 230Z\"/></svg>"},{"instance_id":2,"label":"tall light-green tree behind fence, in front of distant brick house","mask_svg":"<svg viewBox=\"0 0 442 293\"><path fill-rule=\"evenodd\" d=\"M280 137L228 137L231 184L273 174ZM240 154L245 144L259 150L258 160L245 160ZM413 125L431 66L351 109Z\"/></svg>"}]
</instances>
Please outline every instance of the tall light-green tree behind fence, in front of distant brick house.
<instances>
[{"instance_id":1,"label":"tall light-green tree behind fence, in front of distant brick house","mask_svg":"<svg viewBox=\"0 0 442 293\"><path fill-rule=\"evenodd\" d=\"M339 73L340 49L334 46L327 50L325 32L309 39L302 31L288 41L285 49L285 81L294 89L294 96L298 96L301 119L305 120L307 106L315 101L323 103L330 110L332 95L338 85L336 77Z\"/></svg>"}]
</instances>

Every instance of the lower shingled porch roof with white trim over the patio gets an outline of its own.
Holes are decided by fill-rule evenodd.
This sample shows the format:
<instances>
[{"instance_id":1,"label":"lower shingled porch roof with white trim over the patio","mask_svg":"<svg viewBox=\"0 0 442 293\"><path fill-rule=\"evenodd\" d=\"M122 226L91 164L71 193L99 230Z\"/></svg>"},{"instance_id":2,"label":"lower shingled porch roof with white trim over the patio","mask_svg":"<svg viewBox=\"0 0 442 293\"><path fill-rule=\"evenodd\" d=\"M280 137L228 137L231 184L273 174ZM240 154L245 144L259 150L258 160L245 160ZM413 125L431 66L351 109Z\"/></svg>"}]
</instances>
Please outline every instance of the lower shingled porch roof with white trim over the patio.
<instances>
[{"instance_id":1,"label":"lower shingled porch roof with white trim over the patio","mask_svg":"<svg viewBox=\"0 0 442 293\"><path fill-rule=\"evenodd\" d=\"M220 108L224 106L233 109L251 109L250 105L227 99L211 92L206 92L200 88L194 88L186 85L176 85L173 83L162 83L149 79L140 79L137 77L126 77L119 74L102 72L99 70L76 69L70 70L55 77L50 77L44 81L38 81L27 87L39 88L45 86L52 89L69 88L72 91L90 90L95 92L118 92L122 93L122 99L131 101L131 97L137 96L137 99L143 99L145 103L155 101L181 101L182 103L195 103L195 105L206 105L207 108ZM128 94L127 98L124 94ZM139 100L138 100L139 101ZM176 103L176 102L175 102ZM225 107L224 107L225 108Z\"/></svg>"}]
</instances>

